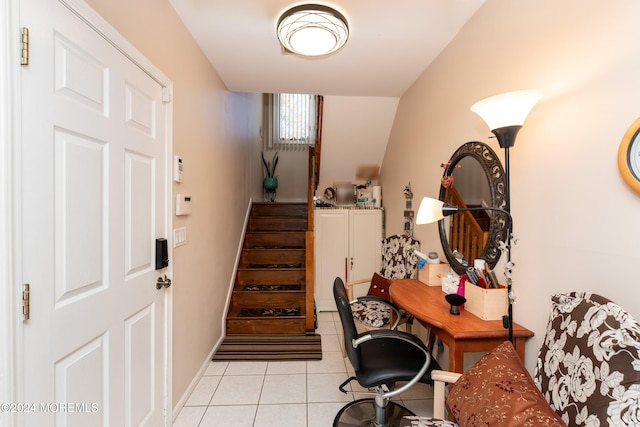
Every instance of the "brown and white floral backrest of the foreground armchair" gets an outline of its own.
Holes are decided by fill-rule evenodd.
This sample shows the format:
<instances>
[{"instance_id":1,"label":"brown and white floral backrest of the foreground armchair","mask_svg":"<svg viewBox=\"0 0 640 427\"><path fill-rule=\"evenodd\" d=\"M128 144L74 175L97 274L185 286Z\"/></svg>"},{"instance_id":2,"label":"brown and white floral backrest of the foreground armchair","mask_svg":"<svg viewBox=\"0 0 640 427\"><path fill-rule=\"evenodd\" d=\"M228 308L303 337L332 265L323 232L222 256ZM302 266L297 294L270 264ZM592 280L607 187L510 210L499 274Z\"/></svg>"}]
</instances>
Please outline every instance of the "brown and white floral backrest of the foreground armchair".
<instances>
[{"instance_id":1,"label":"brown and white floral backrest of the foreground armchair","mask_svg":"<svg viewBox=\"0 0 640 427\"><path fill-rule=\"evenodd\" d=\"M588 292L557 294L534 379L569 426L640 425L640 325Z\"/></svg>"}]
</instances>

